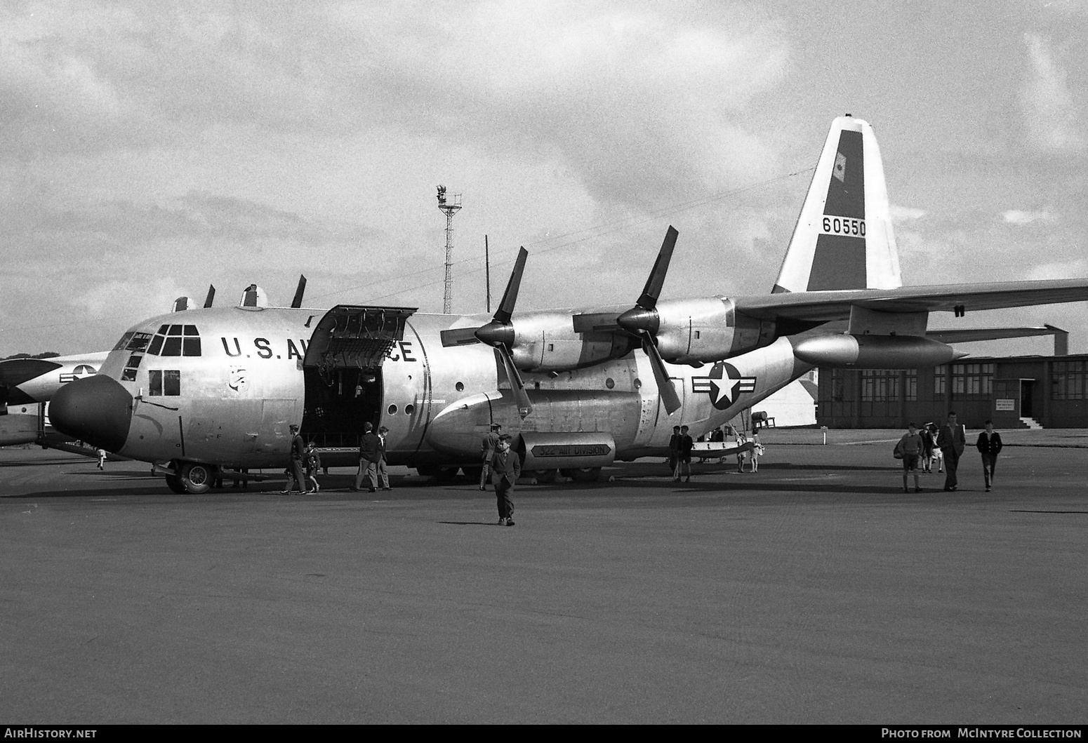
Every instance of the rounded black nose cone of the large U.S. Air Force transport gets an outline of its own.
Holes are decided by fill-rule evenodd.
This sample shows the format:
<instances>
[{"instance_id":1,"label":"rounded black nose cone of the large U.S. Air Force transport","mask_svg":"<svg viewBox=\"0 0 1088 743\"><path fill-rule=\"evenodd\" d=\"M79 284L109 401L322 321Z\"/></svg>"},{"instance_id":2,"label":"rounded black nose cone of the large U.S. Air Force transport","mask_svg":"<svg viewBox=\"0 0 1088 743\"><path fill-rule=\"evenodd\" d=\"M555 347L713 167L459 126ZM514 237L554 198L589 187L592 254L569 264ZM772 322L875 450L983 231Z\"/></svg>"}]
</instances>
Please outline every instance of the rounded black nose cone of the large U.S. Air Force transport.
<instances>
[{"instance_id":1,"label":"rounded black nose cone of the large U.S. Air Force transport","mask_svg":"<svg viewBox=\"0 0 1088 743\"><path fill-rule=\"evenodd\" d=\"M132 416L133 396L102 374L69 382L49 403L49 422L58 431L107 451L124 447Z\"/></svg>"}]
</instances>

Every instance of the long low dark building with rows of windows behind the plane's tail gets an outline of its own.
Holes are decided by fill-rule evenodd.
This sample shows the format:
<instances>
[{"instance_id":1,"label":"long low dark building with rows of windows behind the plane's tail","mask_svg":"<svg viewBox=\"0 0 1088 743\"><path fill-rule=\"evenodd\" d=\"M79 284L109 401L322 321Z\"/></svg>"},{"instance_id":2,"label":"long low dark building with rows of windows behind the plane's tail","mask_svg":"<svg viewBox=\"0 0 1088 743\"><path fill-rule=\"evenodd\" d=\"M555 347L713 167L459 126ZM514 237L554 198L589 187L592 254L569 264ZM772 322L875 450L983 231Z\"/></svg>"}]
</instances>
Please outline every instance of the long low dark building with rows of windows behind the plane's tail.
<instances>
[{"instance_id":1,"label":"long low dark building with rows of windows behind the plane's tail","mask_svg":"<svg viewBox=\"0 0 1088 743\"><path fill-rule=\"evenodd\" d=\"M1088 355L970 357L932 369L820 369L816 423L829 429L900 429L943 421L968 429L1088 428Z\"/></svg>"}]
</instances>

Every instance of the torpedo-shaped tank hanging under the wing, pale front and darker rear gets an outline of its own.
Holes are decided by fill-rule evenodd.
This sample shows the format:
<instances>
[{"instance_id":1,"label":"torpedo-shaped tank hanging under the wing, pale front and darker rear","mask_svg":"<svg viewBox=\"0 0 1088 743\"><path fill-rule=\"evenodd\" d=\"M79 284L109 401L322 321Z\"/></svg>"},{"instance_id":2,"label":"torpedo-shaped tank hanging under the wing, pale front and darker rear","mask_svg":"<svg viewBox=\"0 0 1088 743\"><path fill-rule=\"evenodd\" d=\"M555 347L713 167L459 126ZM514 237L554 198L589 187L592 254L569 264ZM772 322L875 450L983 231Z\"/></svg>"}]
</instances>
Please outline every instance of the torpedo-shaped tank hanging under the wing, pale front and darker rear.
<instances>
[{"instance_id":1,"label":"torpedo-shaped tank hanging under the wing, pale front and darker rear","mask_svg":"<svg viewBox=\"0 0 1088 743\"><path fill-rule=\"evenodd\" d=\"M952 346L917 335L820 335L801 340L793 355L817 367L917 369L966 356Z\"/></svg>"}]
</instances>

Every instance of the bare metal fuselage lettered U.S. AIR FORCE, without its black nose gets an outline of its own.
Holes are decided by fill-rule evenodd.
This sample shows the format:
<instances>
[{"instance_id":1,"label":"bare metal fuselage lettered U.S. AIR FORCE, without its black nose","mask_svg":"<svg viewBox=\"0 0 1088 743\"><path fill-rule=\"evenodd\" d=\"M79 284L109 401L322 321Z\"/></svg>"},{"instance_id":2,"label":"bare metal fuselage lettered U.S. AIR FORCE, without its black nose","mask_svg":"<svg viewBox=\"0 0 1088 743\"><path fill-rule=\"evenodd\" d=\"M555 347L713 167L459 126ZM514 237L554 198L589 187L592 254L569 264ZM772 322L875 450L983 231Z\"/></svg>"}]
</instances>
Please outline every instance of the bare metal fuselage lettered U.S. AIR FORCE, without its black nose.
<instances>
[{"instance_id":1,"label":"bare metal fuselage lettered U.S. AIR FORCE, without its black nose","mask_svg":"<svg viewBox=\"0 0 1088 743\"><path fill-rule=\"evenodd\" d=\"M185 323L194 329L187 333L199 335L199 356L134 354L129 348L109 355L99 373L120 382L133 397L131 424L116 453L151 462L277 467L289 449L287 426L301 423L304 437L324 449L324 463L348 463L355 461L356 437L367 420L390 429L393 465L477 463L481 437L492 423L527 441L557 444L598 434L611 442L609 459L631 459L666 450L673 425L689 425L693 435L721 425L808 369L794 359L787 339L730 358L728 364L670 364L683 401L670 416L660 405L645 355L634 350L585 368L527 373L534 408L522 419L510 391L502 388L506 377L494 349L483 344L444 347L440 342L442 331L474 318L412 313L380 367L353 370L306 364L313 329L324 314L288 308L195 309L133 327L129 334L154 334ZM577 338L571 336L568 340ZM548 342L542 333L543 348ZM572 357L583 352L569 343L566 347ZM173 388L163 387L164 375L176 380ZM599 454L599 445L595 450Z\"/></svg>"}]
</instances>

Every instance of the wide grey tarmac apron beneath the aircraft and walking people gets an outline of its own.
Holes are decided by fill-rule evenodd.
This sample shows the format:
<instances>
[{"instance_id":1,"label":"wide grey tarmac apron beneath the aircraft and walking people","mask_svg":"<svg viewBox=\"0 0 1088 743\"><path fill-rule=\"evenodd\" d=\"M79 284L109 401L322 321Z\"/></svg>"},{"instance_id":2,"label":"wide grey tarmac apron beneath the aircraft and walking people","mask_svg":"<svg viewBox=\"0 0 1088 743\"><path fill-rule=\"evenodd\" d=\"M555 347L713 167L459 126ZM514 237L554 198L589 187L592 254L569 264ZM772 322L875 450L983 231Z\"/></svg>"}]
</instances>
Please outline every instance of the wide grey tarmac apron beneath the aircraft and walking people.
<instances>
[{"instance_id":1,"label":"wide grey tarmac apron beneath the aircraft and walking people","mask_svg":"<svg viewBox=\"0 0 1088 743\"><path fill-rule=\"evenodd\" d=\"M1083 448L889 443L494 495L171 493L0 450L0 721L1084 723ZM912 482L913 485L913 482Z\"/></svg>"}]
</instances>

